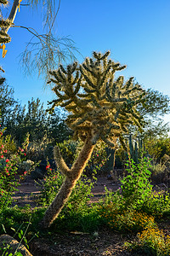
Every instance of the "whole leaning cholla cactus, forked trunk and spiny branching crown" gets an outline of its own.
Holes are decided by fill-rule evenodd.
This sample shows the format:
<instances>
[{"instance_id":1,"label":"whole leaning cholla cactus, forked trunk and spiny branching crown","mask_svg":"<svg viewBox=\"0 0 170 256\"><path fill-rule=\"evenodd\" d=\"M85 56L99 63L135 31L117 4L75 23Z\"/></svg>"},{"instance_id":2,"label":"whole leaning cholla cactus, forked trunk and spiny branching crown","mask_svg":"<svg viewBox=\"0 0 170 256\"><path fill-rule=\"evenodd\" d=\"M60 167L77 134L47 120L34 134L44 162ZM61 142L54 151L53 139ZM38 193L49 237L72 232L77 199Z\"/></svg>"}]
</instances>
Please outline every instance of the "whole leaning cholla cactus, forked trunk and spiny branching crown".
<instances>
[{"instance_id":1,"label":"whole leaning cholla cactus, forked trunk and spiny branching crown","mask_svg":"<svg viewBox=\"0 0 170 256\"><path fill-rule=\"evenodd\" d=\"M54 93L57 99L52 107L65 108L70 114L66 123L74 131L74 137L81 138L82 150L71 169L66 166L59 148L54 148L54 158L59 171L65 176L65 181L59 189L52 204L48 207L42 219L42 227L48 228L65 206L81 177L94 146L104 141L109 147L115 148L116 141L125 147L123 133L127 125L137 125L141 129L142 119L136 111L139 102L144 101L144 90L139 84L133 83L133 78L124 83L123 76L115 79L116 71L125 66L108 59L110 52L104 55L94 52L94 58L86 58L82 65L74 62L65 69L51 71L54 82Z\"/></svg>"}]
</instances>

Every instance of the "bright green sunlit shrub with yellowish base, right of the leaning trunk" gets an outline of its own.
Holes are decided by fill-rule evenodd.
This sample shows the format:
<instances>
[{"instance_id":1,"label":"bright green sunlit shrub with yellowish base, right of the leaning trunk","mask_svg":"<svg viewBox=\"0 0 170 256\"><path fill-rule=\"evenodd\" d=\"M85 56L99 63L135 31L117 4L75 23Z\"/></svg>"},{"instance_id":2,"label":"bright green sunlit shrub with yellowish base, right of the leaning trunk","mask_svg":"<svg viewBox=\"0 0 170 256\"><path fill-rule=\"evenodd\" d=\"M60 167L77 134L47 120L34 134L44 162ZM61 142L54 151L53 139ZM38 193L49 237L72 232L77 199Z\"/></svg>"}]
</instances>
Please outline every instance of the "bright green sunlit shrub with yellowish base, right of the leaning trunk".
<instances>
[{"instance_id":1,"label":"bright green sunlit shrub with yellowish base, right of the leaning trunk","mask_svg":"<svg viewBox=\"0 0 170 256\"><path fill-rule=\"evenodd\" d=\"M143 158L139 164L127 162L127 176L121 187L112 192L105 187L105 198L99 202L99 216L111 229L135 231L144 230L149 223L168 215L169 194L152 191L150 185L150 160Z\"/></svg>"}]
</instances>

